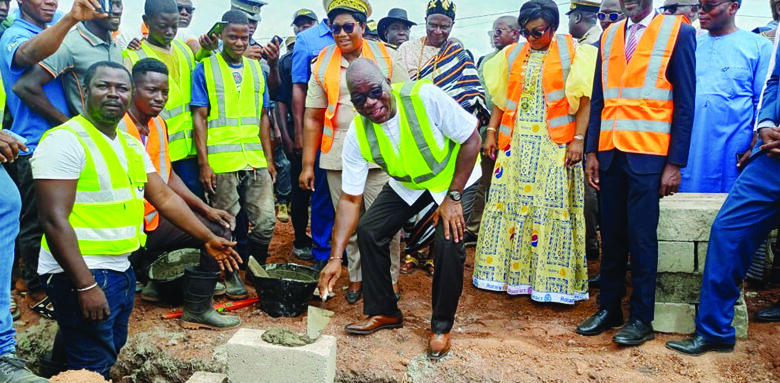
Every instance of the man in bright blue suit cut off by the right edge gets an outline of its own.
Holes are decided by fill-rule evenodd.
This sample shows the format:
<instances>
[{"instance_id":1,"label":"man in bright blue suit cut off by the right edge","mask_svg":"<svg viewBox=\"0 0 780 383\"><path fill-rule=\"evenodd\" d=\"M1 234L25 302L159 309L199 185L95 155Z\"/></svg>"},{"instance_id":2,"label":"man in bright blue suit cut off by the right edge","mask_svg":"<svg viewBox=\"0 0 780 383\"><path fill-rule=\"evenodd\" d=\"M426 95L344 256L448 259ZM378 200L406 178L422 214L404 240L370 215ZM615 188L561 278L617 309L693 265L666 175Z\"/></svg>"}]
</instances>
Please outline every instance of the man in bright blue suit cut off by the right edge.
<instances>
[{"instance_id":1,"label":"man in bright blue suit cut off by the right edge","mask_svg":"<svg viewBox=\"0 0 780 383\"><path fill-rule=\"evenodd\" d=\"M780 54L780 51L777 52ZM688 355L734 349L734 303L753 254L780 222L780 55L764 89L758 115L759 141L729 192L710 230L702 276L696 333L666 347ZM780 302L759 310L756 319L780 321Z\"/></svg>"}]
</instances>

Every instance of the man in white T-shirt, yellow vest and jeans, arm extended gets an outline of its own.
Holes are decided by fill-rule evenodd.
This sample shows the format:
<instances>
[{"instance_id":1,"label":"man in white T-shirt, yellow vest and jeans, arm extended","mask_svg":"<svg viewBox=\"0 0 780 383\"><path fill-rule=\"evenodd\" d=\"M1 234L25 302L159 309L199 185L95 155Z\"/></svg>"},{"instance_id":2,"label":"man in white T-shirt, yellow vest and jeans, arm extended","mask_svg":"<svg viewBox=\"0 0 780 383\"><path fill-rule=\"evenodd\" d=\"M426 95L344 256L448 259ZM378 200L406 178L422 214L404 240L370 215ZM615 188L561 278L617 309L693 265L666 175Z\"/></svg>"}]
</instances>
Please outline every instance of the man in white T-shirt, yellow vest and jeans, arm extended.
<instances>
[{"instance_id":1,"label":"man in white T-shirt, yellow vest and jeans, arm extended","mask_svg":"<svg viewBox=\"0 0 780 383\"><path fill-rule=\"evenodd\" d=\"M117 130L130 105L130 73L99 62L84 85L86 114L49 130L32 160L44 229L38 274L58 308L68 368L108 378L127 340L135 295L128 255L145 242L144 198L205 243L220 269L235 270L240 257L163 182L142 144ZM204 291L216 278L210 283Z\"/></svg>"}]
</instances>

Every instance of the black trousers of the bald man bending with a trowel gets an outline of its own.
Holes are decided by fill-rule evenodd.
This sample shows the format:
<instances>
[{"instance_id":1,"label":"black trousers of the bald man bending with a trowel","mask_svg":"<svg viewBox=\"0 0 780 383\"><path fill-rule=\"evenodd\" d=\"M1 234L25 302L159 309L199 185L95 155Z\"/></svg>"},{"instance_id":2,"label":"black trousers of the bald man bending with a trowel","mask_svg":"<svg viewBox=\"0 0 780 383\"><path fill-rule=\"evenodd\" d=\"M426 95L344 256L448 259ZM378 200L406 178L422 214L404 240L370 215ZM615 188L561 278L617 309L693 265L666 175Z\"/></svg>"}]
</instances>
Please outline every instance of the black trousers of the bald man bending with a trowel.
<instances>
[{"instance_id":1,"label":"black trousers of the bald man bending with a trowel","mask_svg":"<svg viewBox=\"0 0 780 383\"><path fill-rule=\"evenodd\" d=\"M477 187L474 184L463 193L465 222L469 220ZM426 192L409 206L390 185L385 185L360 219L356 231L363 263L363 312L366 315L395 315L400 312L390 276L390 241L409 218L433 201L431 194ZM431 292L431 330L448 333L455 322L455 311L463 292L466 248L462 241L455 243L452 238L444 239L444 224L441 221L436 227L433 257L435 270Z\"/></svg>"}]
</instances>

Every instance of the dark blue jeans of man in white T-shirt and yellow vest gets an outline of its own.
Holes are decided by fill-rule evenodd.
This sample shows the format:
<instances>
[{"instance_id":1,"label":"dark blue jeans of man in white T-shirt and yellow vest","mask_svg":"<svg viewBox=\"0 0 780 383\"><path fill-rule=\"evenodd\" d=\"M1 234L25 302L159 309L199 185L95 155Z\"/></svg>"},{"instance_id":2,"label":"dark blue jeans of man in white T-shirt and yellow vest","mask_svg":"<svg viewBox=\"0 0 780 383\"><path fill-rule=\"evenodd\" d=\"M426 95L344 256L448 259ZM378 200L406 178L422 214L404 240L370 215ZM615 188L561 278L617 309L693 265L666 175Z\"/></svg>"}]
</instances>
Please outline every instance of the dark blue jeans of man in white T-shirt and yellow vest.
<instances>
[{"instance_id":1,"label":"dark blue jeans of man in white T-shirt and yellow vest","mask_svg":"<svg viewBox=\"0 0 780 383\"><path fill-rule=\"evenodd\" d=\"M125 272L90 271L106 294L111 310L108 319L100 322L84 319L78 293L65 273L44 274L41 281L57 310L57 324L68 354L68 369L86 369L108 379L108 373L127 341L127 322L135 297L135 274L132 268Z\"/></svg>"}]
</instances>

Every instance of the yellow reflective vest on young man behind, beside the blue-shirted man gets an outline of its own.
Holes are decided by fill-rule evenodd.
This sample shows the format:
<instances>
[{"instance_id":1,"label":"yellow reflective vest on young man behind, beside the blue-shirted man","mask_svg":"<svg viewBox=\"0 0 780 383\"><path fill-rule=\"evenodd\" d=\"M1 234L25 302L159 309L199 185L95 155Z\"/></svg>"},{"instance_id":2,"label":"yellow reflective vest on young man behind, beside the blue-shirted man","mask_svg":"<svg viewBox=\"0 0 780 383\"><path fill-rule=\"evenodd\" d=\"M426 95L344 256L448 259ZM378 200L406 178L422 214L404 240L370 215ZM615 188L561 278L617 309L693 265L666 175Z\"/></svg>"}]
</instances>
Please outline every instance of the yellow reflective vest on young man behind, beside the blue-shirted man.
<instances>
[{"instance_id":1,"label":"yellow reflective vest on young man behind, beside the blue-shirted man","mask_svg":"<svg viewBox=\"0 0 780 383\"><path fill-rule=\"evenodd\" d=\"M192 140L192 71L195 69L195 56L192 50L181 39L174 39L171 48L179 63L179 78L171 77L168 102L160 116L168 125L168 150L171 161L178 161L197 154ZM151 57L160 60L160 56L143 41L141 49L134 51L125 49L124 56L135 65L141 59ZM162 60L160 60L162 61Z\"/></svg>"}]
</instances>

